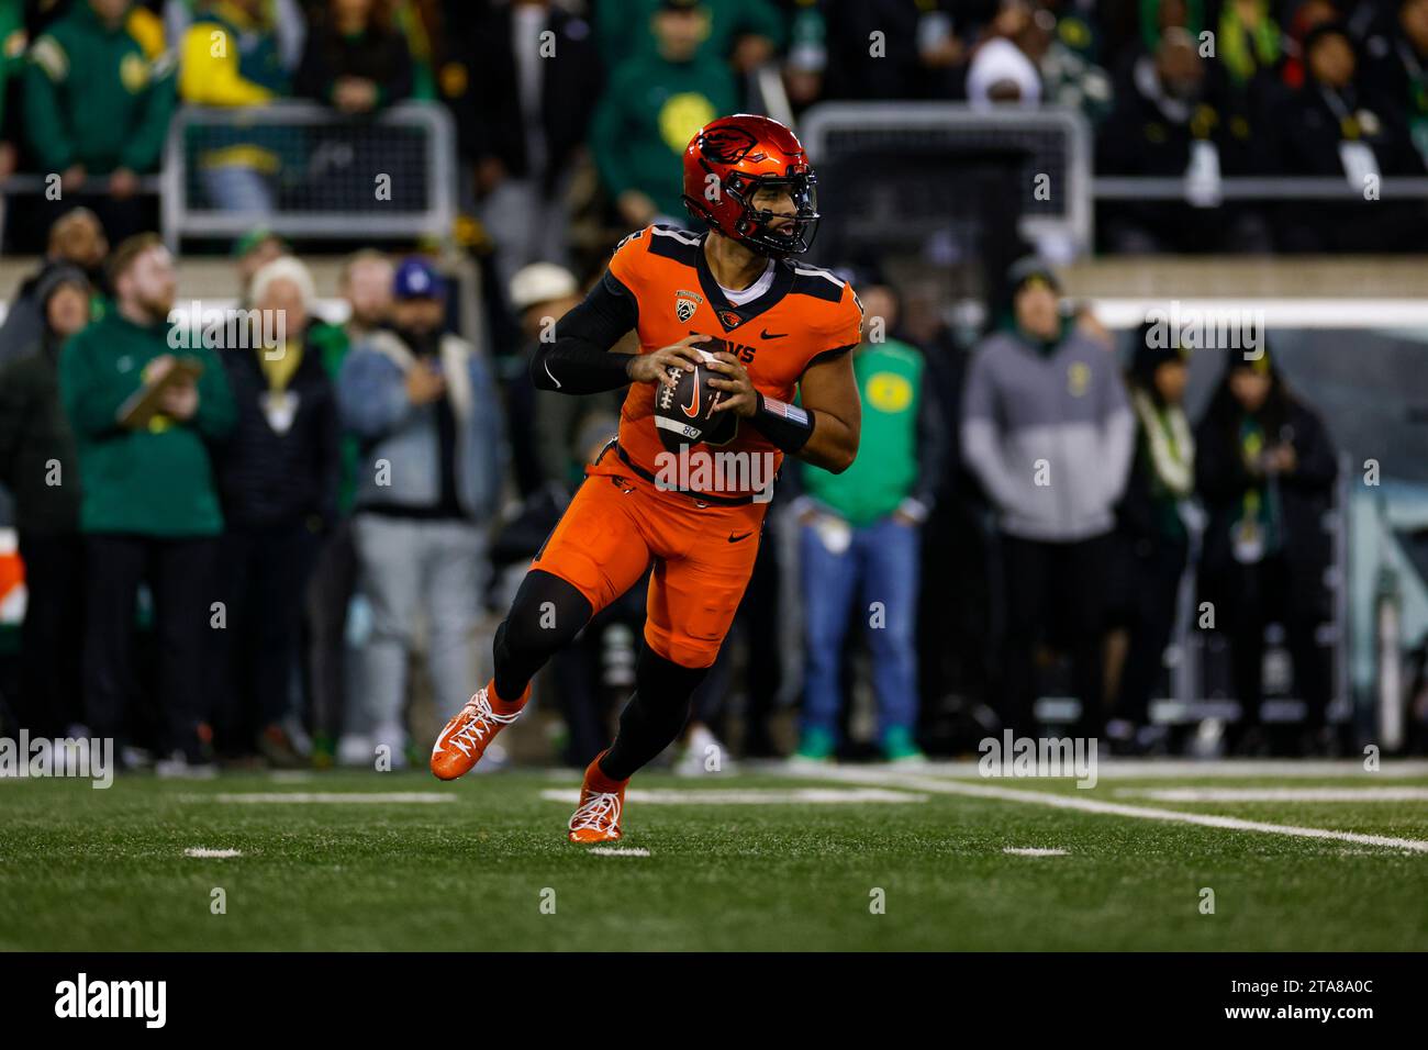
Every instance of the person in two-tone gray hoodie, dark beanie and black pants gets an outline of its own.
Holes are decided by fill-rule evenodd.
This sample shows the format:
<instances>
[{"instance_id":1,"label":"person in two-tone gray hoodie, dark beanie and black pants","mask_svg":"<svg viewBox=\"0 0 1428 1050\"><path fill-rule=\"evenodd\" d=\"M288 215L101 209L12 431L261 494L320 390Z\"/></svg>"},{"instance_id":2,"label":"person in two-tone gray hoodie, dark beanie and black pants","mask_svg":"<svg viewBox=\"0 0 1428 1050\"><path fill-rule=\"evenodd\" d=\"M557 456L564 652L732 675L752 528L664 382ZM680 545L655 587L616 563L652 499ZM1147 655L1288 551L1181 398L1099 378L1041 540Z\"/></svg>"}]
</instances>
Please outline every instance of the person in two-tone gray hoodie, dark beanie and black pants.
<instances>
[{"instance_id":1,"label":"person in two-tone gray hoodie, dark beanie and black pants","mask_svg":"<svg viewBox=\"0 0 1428 1050\"><path fill-rule=\"evenodd\" d=\"M962 456L997 514L1005 591L1002 723L1032 731L1037 650L1070 651L1077 731L1104 723L1105 540L1135 424L1111 350L1060 310L1035 259L1008 276L1014 316L982 340L962 396Z\"/></svg>"}]
</instances>

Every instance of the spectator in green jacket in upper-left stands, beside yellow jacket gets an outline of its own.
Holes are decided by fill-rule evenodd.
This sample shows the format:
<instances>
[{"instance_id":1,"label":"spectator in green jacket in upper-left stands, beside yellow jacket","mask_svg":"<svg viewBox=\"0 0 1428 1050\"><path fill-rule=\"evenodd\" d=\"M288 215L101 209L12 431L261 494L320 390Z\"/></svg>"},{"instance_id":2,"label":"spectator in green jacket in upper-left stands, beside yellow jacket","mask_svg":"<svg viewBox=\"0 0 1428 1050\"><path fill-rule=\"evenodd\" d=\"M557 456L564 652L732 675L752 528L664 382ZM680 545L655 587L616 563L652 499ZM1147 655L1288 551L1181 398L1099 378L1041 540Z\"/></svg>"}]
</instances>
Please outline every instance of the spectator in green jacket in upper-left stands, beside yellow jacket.
<instances>
[{"instance_id":1,"label":"spectator in green jacket in upper-left stands, beside yellow jacket","mask_svg":"<svg viewBox=\"0 0 1428 1050\"><path fill-rule=\"evenodd\" d=\"M126 16L130 0L83 0L30 47L24 131L44 173L91 206L110 236L140 227L139 176L159 166L174 111L173 63L150 61Z\"/></svg>"}]
</instances>

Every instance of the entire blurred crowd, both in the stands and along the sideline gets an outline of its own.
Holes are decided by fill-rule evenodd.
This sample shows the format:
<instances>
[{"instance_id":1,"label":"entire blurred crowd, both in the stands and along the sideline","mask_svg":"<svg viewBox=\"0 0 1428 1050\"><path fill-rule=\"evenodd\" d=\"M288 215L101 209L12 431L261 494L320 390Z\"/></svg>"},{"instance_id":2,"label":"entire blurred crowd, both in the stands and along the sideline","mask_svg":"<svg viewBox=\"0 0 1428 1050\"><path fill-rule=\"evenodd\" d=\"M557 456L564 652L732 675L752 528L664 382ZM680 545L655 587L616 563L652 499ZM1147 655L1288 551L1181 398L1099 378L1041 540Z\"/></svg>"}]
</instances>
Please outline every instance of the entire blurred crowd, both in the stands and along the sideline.
<instances>
[{"instance_id":1,"label":"entire blurred crowd, both in the stands and along the sideline","mask_svg":"<svg viewBox=\"0 0 1428 1050\"><path fill-rule=\"evenodd\" d=\"M524 363L611 231L688 226L678 154L760 73L794 113L1075 106L1107 174L1362 181L1428 156L1428 0L0 0L0 180L63 190L9 223L43 259L0 327L0 484L29 589L3 699L31 731L87 726L178 769L400 763L423 743L413 697L444 717L483 680L483 624L620 409L537 396ZM238 306L284 331L174 343L176 263L143 233L141 179L176 106L278 99L350 120L450 110L484 246L474 339L423 253L348 256L320 316L263 223L294 159L240 123L204 139L198 184L251 216ZM1107 203L1098 230L1118 251L1421 243L1401 203L1191 207ZM1272 351L1227 353L1191 421L1174 339L1147 329L1117 354L1041 261L997 269L1010 309L971 344L875 260L844 267L884 321L854 357L864 451L840 476L785 470L690 760L724 740L918 761L1035 731L1041 696L1077 699L1078 731L1118 749L1165 749L1148 701L1168 691L1184 580L1197 627L1228 644L1230 749L1332 750L1315 633L1337 460L1318 416ZM545 674L565 761L595 754L628 696L643 601L604 610ZM1271 623L1305 703L1289 731L1259 719ZM871 727L850 724L854 697ZM795 739L775 730L790 701Z\"/></svg>"}]
</instances>

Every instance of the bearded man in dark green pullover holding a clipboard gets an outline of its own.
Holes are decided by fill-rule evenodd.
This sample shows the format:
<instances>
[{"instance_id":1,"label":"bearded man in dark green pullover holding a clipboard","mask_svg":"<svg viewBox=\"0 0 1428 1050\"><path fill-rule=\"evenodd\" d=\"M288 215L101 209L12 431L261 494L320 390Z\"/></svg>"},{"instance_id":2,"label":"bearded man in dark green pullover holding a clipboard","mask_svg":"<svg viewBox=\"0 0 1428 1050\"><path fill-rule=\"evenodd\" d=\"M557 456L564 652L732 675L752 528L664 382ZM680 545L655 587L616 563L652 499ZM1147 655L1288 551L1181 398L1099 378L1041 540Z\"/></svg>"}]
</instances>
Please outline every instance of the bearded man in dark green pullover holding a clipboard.
<instances>
[{"instance_id":1,"label":"bearded man in dark green pullover holding a clipboard","mask_svg":"<svg viewBox=\"0 0 1428 1050\"><path fill-rule=\"evenodd\" d=\"M80 531L86 550L84 707L90 730L123 739L133 680L131 631L139 584L154 600L164 713L161 771L203 760L200 726L208 687L208 631L226 626L213 607L213 557L223 531L208 443L237 411L217 354L174 353L173 259L157 234L120 244L110 260L114 309L60 354L60 396L80 461ZM201 369L166 380L180 359ZM159 386L161 390L154 390ZM156 399L153 413L141 411Z\"/></svg>"}]
</instances>

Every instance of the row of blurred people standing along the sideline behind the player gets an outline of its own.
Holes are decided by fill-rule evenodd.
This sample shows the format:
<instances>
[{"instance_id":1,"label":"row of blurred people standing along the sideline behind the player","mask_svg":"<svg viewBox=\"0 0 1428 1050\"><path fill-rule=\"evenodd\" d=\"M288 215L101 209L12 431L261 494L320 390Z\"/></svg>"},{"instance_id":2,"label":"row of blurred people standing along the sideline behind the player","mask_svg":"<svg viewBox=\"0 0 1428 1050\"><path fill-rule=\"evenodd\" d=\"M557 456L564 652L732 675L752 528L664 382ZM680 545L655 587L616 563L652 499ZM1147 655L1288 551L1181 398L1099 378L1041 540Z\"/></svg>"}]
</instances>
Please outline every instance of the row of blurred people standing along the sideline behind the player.
<instances>
[{"instance_id":1,"label":"row of blurred people standing along the sideline behind the player","mask_svg":"<svg viewBox=\"0 0 1428 1050\"><path fill-rule=\"evenodd\" d=\"M154 234L110 249L77 209L50 244L0 331L0 484L29 587L11 719L143 740L178 771L420 760L413 699L444 717L481 680L481 624L614 433L618 393L536 396L526 367L456 334L428 256L347 257L324 320L308 267L256 231L233 253L240 309L283 323L254 336L174 321ZM784 471L695 697L695 770L721 740L915 763L927 740L1040 731L1044 696L1080 701L1078 733L1164 750L1148 704L1168 694L1182 579L1195 629L1228 643L1230 749L1338 746L1315 637L1337 456L1271 349L1222 351L1192 423L1175 330L1148 323L1122 359L1041 260L1011 267L1011 309L975 346L904 310L877 267L841 273L868 317L863 447L843 474ZM508 296L521 364L581 284L538 261ZM584 764L607 739L643 601L637 586L545 673L560 759ZM1275 733L1271 623L1305 706ZM790 687L797 739L775 731ZM870 730L850 724L855 694ZM950 710L971 739L935 730Z\"/></svg>"}]
</instances>

